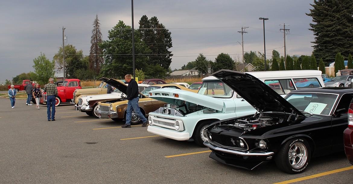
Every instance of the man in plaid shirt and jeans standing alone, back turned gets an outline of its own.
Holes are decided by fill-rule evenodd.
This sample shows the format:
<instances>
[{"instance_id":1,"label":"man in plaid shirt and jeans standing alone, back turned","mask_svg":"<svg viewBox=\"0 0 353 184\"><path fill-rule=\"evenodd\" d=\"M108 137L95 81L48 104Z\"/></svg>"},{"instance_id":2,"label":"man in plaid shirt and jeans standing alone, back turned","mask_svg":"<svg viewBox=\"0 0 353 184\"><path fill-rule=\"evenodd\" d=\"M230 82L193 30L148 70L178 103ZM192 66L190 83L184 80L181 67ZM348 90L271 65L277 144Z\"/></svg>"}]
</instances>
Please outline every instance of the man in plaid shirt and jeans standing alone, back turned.
<instances>
[{"instance_id":1,"label":"man in plaid shirt and jeans standing alone, back turned","mask_svg":"<svg viewBox=\"0 0 353 184\"><path fill-rule=\"evenodd\" d=\"M53 84L54 79L49 78L49 83L46 84L43 88L43 92L47 92L47 114L48 121L50 119L55 121L55 98L58 96L58 89L56 89L56 85ZM50 113L50 107L52 108L52 112ZM51 115L51 118L50 118Z\"/></svg>"}]
</instances>

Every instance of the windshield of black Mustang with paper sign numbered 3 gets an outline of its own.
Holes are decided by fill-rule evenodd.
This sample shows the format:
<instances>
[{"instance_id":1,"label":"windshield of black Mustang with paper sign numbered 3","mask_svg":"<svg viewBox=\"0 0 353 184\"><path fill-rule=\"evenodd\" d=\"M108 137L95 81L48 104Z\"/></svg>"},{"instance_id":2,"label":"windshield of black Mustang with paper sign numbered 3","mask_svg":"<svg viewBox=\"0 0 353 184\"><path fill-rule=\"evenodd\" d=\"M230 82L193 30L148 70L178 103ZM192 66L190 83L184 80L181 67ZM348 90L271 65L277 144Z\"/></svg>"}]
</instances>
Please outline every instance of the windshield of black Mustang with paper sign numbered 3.
<instances>
[{"instance_id":1,"label":"windshield of black Mustang with paper sign numbered 3","mask_svg":"<svg viewBox=\"0 0 353 184\"><path fill-rule=\"evenodd\" d=\"M290 93L285 99L300 111L329 115L337 96L323 93Z\"/></svg>"}]
</instances>

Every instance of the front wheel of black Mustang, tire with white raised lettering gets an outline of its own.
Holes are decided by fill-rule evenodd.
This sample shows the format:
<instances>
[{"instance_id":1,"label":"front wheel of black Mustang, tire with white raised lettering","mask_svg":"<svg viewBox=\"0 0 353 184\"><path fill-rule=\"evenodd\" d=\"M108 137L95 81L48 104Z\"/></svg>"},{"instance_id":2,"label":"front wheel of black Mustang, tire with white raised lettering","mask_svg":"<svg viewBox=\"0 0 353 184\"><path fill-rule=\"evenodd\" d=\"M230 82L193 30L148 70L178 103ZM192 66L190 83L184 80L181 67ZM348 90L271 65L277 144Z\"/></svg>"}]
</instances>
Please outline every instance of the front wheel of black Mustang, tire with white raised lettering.
<instances>
[{"instance_id":1,"label":"front wheel of black Mustang, tire with white raised lettering","mask_svg":"<svg viewBox=\"0 0 353 184\"><path fill-rule=\"evenodd\" d=\"M275 157L275 162L283 172L298 174L309 165L310 157L309 143L303 138L294 138L283 144Z\"/></svg>"}]
</instances>

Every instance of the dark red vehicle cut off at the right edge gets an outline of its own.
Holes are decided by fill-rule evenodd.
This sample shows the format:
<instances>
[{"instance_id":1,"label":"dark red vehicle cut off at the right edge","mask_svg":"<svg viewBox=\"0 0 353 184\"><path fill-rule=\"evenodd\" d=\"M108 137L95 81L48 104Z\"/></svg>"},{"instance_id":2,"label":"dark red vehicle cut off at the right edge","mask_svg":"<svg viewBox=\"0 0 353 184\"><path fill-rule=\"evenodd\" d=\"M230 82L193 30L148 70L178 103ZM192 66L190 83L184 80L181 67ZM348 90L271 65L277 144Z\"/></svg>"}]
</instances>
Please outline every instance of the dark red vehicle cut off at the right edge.
<instances>
[{"instance_id":1,"label":"dark red vehicle cut off at the right edge","mask_svg":"<svg viewBox=\"0 0 353 184\"><path fill-rule=\"evenodd\" d=\"M345 152L349 163L353 165L353 100L348 109L348 127L343 132L343 140L345 142Z\"/></svg>"}]
</instances>

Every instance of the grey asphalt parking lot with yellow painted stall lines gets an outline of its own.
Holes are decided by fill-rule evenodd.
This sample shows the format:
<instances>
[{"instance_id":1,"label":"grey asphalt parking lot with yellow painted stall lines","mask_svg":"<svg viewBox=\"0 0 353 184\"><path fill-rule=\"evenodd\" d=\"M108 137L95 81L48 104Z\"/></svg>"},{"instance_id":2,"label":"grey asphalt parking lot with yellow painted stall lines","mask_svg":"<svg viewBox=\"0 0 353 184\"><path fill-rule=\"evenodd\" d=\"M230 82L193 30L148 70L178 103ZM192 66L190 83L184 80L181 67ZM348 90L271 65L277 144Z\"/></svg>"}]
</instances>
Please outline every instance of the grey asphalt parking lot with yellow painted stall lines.
<instances>
[{"instance_id":1,"label":"grey asphalt parking lot with yellow painted stall lines","mask_svg":"<svg viewBox=\"0 0 353 184\"><path fill-rule=\"evenodd\" d=\"M295 175L274 162L248 171L141 125L122 129L125 121L95 119L70 104L56 107L56 121L47 121L46 106L40 108L17 99L12 109L0 97L0 183L353 183L344 152L313 158Z\"/></svg>"}]
</instances>

